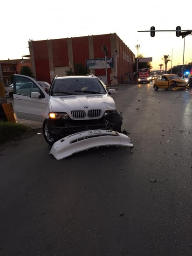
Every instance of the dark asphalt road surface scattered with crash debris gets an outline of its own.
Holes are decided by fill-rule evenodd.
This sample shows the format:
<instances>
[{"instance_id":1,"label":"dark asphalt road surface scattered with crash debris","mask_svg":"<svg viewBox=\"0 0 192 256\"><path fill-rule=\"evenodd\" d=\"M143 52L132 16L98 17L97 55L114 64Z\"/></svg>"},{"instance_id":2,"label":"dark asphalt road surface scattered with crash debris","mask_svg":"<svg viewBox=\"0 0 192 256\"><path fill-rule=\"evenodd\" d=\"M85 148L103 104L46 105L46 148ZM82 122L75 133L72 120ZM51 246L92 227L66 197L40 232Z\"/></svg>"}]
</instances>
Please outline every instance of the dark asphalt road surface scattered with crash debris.
<instances>
[{"instance_id":1,"label":"dark asphalt road surface scattered with crash debris","mask_svg":"<svg viewBox=\"0 0 192 256\"><path fill-rule=\"evenodd\" d=\"M0 256L191 256L192 91L114 96L133 149L0 146Z\"/></svg>"}]
</instances>

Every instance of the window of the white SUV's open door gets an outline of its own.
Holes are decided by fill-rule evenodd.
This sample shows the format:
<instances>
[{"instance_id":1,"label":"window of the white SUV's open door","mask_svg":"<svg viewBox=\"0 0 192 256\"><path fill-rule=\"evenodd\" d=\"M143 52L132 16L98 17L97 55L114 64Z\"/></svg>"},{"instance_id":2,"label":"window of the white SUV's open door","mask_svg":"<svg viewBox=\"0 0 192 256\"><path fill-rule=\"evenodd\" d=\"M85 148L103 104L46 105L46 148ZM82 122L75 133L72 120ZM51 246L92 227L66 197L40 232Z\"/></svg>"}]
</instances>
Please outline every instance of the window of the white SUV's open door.
<instances>
[{"instance_id":1,"label":"window of the white SUV's open door","mask_svg":"<svg viewBox=\"0 0 192 256\"><path fill-rule=\"evenodd\" d=\"M16 86L15 88L16 94L30 97L31 92L33 91L37 91L41 93L39 87L27 77L21 77L21 76L16 77L16 84L17 83L21 83L21 86Z\"/></svg>"}]
</instances>

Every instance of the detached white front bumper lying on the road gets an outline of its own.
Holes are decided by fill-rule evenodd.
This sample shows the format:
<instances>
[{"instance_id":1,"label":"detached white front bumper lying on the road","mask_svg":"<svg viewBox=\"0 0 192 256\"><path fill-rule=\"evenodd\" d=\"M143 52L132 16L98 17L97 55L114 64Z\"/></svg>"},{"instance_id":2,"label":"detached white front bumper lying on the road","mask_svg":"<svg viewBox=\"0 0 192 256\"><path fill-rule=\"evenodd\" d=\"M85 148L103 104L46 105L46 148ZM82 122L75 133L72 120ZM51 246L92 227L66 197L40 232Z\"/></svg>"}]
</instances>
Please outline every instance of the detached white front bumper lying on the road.
<instances>
[{"instance_id":1,"label":"detached white front bumper lying on the road","mask_svg":"<svg viewBox=\"0 0 192 256\"><path fill-rule=\"evenodd\" d=\"M56 141L49 153L57 160L61 160L77 152L101 146L133 147L133 144L127 135L117 131L89 130L77 132Z\"/></svg>"}]
</instances>

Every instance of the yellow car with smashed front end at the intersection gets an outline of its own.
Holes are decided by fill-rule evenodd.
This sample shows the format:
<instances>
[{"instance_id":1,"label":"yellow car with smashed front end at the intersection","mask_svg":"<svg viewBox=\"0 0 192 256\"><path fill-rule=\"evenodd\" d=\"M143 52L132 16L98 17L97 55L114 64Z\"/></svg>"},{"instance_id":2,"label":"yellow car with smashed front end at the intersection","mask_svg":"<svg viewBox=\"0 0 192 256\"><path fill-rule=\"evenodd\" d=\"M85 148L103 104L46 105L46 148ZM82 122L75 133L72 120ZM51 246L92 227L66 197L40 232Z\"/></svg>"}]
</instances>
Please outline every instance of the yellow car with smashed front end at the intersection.
<instances>
[{"instance_id":1,"label":"yellow car with smashed front end at the intersection","mask_svg":"<svg viewBox=\"0 0 192 256\"><path fill-rule=\"evenodd\" d=\"M189 84L175 74L158 75L153 83L154 90L170 89L181 90L188 89Z\"/></svg>"}]
</instances>

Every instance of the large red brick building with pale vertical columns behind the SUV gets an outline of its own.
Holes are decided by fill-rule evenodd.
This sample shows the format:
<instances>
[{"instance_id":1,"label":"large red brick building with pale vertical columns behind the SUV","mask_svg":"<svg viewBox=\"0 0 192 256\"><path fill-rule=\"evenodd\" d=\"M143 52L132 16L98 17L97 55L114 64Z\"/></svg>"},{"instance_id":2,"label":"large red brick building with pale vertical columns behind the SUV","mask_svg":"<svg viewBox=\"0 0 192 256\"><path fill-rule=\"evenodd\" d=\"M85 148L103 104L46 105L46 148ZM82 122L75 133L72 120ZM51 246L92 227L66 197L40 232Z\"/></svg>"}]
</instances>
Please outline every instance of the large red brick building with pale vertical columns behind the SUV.
<instances>
[{"instance_id":1,"label":"large red brick building with pale vertical columns behind the SUV","mask_svg":"<svg viewBox=\"0 0 192 256\"><path fill-rule=\"evenodd\" d=\"M66 71L74 70L75 64L87 67L89 73L109 85L125 83L129 76L133 79L135 55L116 33L29 41L28 44L31 69L37 81L51 83L54 76L66 76ZM106 59L103 45L109 52Z\"/></svg>"}]
</instances>

